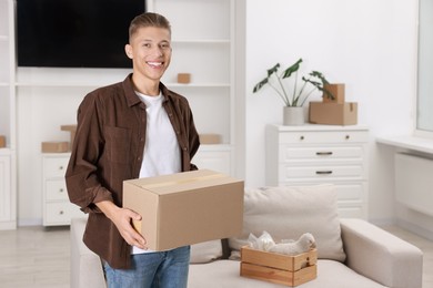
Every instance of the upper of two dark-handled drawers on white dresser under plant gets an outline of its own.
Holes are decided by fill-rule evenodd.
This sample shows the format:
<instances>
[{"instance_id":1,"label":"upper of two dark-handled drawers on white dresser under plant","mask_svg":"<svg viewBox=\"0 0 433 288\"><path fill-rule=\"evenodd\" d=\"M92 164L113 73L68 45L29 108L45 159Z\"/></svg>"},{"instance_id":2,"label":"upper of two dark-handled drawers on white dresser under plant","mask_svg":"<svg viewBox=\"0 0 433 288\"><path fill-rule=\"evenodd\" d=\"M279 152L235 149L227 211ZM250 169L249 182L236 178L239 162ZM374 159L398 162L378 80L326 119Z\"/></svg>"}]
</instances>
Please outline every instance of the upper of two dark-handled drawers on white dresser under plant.
<instances>
[{"instance_id":1,"label":"upper of two dark-handled drawers on white dresser under plant","mask_svg":"<svg viewBox=\"0 0 433 288\"><path fill-rule=\"evenodd\" d=\"M293 160L361 160L364 156L364 148L362 146L292 147L288 145L281 145L280 151L280 162L288 162Z\"/></svg>"}]
</instances>

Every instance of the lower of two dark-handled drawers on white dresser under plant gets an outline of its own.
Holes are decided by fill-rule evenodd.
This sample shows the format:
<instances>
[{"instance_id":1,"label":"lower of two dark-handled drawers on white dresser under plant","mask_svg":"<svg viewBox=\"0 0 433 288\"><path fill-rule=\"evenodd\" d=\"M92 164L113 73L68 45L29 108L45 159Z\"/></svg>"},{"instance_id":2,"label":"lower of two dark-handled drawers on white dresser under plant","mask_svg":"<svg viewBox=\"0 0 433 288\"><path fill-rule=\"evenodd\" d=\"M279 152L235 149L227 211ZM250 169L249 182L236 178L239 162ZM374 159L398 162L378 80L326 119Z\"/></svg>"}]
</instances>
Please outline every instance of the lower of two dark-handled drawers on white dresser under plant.
<instances>
[{"instance_id":1,"label":"lower of two dark-handled drawers on white dresser under plant","mask_svg":"<svg viewBox=\"0 0 433 288\"><path fill-rule=\"evenodd\" d=\"M280 168L280 181L361 179L365 177L362 165L288 166Z\"/></svg>"}]
</instances>

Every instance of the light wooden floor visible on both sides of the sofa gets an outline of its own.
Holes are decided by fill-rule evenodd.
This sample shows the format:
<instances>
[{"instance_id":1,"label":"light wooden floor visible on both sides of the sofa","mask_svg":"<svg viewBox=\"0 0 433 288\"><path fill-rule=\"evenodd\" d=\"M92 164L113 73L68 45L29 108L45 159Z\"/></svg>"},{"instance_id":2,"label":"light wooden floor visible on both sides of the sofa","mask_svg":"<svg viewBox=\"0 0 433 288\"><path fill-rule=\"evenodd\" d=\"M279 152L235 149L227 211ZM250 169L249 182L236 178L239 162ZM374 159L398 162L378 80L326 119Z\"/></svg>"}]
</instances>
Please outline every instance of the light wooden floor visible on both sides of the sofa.
<instances>
[{"instance_id":1,"label":"light wooden floor visible on both sides of the sofa","mask_svg":"<svg viewBox=\"0 0 433 288\"><path fill-rule=\"evenodd\" d=\"M424 253L423 288L433 287L433 241L395 226L383 227ZM69 228L0 232L0 287L69 287Z\"/></svg>"}]
</instances>

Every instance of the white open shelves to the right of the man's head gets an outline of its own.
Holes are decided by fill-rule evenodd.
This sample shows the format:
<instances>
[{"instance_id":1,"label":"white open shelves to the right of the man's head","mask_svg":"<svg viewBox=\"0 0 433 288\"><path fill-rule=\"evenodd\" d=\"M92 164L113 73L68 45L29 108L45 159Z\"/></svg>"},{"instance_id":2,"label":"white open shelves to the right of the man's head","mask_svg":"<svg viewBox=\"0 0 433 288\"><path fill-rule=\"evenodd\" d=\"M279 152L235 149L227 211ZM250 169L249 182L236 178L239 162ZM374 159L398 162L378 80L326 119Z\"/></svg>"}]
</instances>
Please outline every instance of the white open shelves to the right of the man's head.
<instances>
[{"instance_id":1,"label":"white open shelves to the right of the man's head","mask_svg":"<svg viewBox=\"0 0 433 288\"><path fill-rule=\"evenodd\" d=\"M163 82L189 99L200 133L222 136L218 153L226 153L232 166L234 1L150 0L147 6L172 25L173 59ZM191 83L178 84L178 73L190 73ZM210 153L210 148L201 153Z\"/></svg>"}]
</instances>

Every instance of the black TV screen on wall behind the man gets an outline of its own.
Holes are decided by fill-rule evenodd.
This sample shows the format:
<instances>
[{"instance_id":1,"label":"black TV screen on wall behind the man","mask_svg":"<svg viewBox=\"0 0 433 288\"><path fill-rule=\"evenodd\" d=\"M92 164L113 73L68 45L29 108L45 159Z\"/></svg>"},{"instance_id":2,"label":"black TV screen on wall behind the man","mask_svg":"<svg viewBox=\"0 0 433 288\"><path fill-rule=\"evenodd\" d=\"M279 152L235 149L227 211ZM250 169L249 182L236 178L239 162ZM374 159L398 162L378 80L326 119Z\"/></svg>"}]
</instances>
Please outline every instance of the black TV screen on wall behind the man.
<instances>
[{"instance_id":1,"label":"black TV screen on wall behind the man","mask_svg":"<svg viewBox=\"0 0 433 288\"><path fill-rule=\"evenodd\" d=\"M17 0L19 66L131 68L124 53L144 0Z\"/></svg>"}]
</instances>

